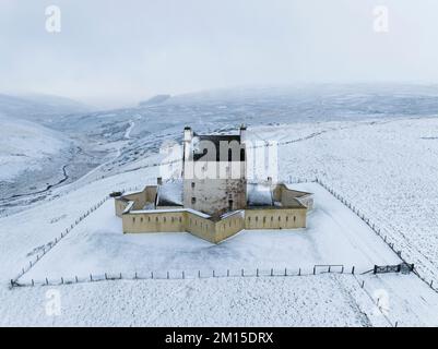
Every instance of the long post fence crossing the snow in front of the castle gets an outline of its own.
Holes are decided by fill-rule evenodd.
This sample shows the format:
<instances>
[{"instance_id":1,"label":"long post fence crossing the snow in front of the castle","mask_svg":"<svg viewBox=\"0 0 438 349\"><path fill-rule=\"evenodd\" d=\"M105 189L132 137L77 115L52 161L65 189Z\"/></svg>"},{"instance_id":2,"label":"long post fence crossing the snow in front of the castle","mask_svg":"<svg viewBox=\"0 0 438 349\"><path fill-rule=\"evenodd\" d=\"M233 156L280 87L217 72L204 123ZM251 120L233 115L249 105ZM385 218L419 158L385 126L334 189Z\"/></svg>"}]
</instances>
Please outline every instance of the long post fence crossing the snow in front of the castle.
<instances>
[{"instance_id":1,"label":"long post fence crossing the snow in front of the castle","mask_svg":"<svg viewBox=\"0 0 438 349\"><path fill-rule=\"evenodd\" d=\"M190 270L151 270L131 273L104 273L88 274L87 276L59 277L43 280L31 279L29 281L11 280L11 287L34 287L34 286L60 286L71 284L84 284L108 280L152 280L152 279L203 279L203 278L229 278L229 277L299 277L315 276L322 274L345 274L355 275L355 266L344 265L315 265L308 268L239 268L239 269L190 269Z\"/></svg>"}]
</instances>

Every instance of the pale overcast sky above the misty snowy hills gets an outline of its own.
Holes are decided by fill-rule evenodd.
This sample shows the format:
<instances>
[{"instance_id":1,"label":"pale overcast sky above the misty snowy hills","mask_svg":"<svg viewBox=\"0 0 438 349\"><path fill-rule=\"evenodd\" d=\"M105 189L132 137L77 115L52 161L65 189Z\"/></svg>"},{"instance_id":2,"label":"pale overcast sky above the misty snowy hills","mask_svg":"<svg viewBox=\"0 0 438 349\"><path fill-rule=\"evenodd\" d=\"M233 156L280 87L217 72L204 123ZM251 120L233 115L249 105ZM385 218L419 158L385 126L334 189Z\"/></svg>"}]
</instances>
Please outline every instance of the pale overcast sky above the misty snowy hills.
<instances>
[{"instance_id":1,"label":"pale overcast sky above the misty snowy hills","mask_svg":"<svg viewBox=\"0 0 438 349\"><path fill-rule=\"evenodd\" d=\"M0 0L0 93L118 106L241 85L437 83L437 0Z\"/></svg>"}]
</instances>

